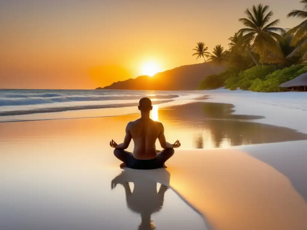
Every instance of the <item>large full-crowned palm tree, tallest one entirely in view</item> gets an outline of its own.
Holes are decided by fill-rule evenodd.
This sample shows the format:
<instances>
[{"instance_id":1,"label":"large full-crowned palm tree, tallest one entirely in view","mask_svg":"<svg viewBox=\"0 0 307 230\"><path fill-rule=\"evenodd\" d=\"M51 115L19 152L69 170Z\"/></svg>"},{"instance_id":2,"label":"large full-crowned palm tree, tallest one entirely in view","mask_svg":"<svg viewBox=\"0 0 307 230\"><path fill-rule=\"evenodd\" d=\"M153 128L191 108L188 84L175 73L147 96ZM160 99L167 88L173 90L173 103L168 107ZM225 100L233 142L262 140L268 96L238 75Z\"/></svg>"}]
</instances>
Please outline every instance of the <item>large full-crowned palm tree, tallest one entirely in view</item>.
<instances>
[{"instance_id":1,"label":"large full-crowned palm tree, tallest one entirely in view","mask_svg":"<svg viewBox=\"0 0 307 230\"><path fill-rule=\"evenodd\" d=\"M251 11L248 8L245 10L247 18L239 19L239 21L246 26L246 28L239 30L239 33L243 33L241 42L247 42L247 48L250 52L250 55L252 42L255 52L260 55L264 54L264 52L267 50L276 51L279 48L276 40L280 39L281 36L275 32L285 31L282 28L275 27L279 23L279 19L270 22L270 19L273 16L273 12L269 11L267 13L268 9L268 5L253 5ZM254 58L253 60L258 65Z\"/></svg>"}]
</instances>

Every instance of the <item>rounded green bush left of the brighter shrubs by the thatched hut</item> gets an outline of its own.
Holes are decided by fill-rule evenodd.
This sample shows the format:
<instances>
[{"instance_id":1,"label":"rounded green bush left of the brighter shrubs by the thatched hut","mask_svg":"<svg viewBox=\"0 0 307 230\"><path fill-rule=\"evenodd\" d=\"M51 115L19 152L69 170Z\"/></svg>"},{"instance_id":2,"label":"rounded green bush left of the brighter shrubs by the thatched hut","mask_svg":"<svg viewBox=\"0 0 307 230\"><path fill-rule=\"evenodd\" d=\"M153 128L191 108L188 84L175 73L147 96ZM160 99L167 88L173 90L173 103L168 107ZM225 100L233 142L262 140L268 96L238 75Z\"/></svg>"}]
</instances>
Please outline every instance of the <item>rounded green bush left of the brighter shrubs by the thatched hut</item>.
<instances>
[{"instance_id":1,"label":"rounded green bush left of the brighter shrubs by the thatched hut","mask_svg":"<svg viewBox=\"0 0 307 230\"><path fill-rule=\"evenodd\" d=\"M241 90L249 90L256 79L264 80L273 71L273 66L254 66L239 74L236 85Z\"/></svg>"}]
</instances>

